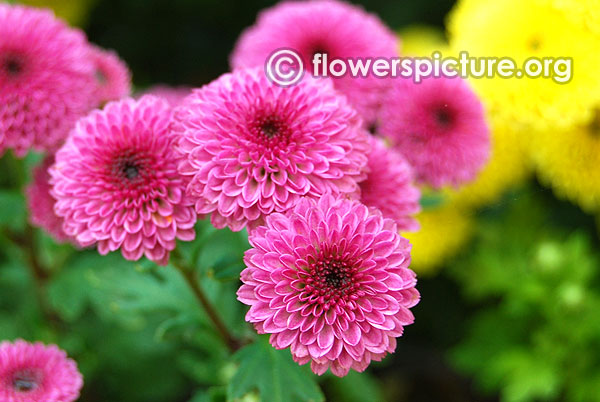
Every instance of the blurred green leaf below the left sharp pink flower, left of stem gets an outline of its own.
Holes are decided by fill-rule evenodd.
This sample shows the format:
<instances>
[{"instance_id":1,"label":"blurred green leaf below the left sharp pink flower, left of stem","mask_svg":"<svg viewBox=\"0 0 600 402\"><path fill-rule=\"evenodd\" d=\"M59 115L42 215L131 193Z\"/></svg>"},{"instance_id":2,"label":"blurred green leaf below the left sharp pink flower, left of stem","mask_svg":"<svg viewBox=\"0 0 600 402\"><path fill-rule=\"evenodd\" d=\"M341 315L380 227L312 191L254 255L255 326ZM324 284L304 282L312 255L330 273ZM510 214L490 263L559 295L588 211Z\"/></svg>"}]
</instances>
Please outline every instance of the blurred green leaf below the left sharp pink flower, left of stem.
<instances>
[{"instance_id":1,"label":"blurred green leaf below the left sharp pink flower, left of stem","mask_svg":"<svg viewBox=\"0 0 600 402\"><path fill-rule=\"evenodd\" d=\"M109 320L139 321L145 313L168 313L172 321L159 328L159 337L174 323L202 319L194 295L173 267L149 269L117 253L77 255L53 280L49 296L67 320L77 318L87 303Z\"/></svg>"}]
</instances>

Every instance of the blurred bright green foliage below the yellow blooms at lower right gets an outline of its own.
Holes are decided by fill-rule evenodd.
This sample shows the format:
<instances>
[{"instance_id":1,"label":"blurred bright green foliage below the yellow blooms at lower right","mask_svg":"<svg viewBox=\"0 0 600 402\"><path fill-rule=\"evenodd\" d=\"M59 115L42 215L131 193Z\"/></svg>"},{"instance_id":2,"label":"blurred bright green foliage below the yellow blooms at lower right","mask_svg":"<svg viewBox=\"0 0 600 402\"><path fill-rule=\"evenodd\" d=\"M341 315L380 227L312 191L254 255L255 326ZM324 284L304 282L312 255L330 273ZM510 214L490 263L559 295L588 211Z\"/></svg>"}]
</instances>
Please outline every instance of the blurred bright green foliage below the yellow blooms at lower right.
<instances>
[{"instance_id":1,"label":"blurred bright green foliage below the yellow blooms at lower right","mask_svg":"<svg viewBox=\"0 0 600 402\"><path fill-rule=\"evenodd\" d=\"M589 233L564 233L541 202L487 219L451 275L480 306L452 361L505 401L600 400L600 284Z\"/></svg>"}]
</instances>

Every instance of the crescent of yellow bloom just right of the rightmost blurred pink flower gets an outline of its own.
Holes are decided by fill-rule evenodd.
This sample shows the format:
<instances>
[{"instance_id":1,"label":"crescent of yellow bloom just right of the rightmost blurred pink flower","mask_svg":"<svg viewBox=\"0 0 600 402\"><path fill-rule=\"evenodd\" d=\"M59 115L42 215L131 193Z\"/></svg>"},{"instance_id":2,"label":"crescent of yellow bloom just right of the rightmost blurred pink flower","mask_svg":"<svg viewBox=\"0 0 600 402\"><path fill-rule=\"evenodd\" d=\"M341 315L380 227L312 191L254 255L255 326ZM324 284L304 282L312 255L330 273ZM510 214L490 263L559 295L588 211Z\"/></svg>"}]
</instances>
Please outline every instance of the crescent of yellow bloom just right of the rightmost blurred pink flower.
<instances>
[{"instance_id":1,"label":"crescent of yellow bloom just right of the rightmost blurred pink flower","mask_svg":"<svg viewBox=\"0 0 600 402\"><path fill-rule=\"evenodd\" d=\"M500 118L492 116L488 121L491 149L487 165L473 182L449 191L453 202L462 207L478 208L493 203L508 189L521 184L530 172L523 138L526 133Z\"/></svg>"}]
</instances>

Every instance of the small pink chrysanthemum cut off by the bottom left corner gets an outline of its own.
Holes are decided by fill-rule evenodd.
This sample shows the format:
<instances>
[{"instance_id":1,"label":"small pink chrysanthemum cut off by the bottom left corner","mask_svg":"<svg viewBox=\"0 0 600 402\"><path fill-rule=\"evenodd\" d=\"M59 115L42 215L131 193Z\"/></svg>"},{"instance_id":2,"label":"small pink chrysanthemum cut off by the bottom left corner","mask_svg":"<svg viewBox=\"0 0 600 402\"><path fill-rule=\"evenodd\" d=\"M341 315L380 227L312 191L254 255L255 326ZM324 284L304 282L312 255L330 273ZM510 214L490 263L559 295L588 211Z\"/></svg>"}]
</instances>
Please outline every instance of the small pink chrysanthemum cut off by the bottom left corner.
<instances>
[{"instance_id":1,"label":"small pink chrysanthemum cut off by the bottom left corner","mask_svg":"<svg viewBox=\"0 0 600 402\"><path fill-rule=\"evenodd\" d=\"M57 346L0 343L0 401L73 402L82 386L77 364Z\"/></svg>"}]
</instances>

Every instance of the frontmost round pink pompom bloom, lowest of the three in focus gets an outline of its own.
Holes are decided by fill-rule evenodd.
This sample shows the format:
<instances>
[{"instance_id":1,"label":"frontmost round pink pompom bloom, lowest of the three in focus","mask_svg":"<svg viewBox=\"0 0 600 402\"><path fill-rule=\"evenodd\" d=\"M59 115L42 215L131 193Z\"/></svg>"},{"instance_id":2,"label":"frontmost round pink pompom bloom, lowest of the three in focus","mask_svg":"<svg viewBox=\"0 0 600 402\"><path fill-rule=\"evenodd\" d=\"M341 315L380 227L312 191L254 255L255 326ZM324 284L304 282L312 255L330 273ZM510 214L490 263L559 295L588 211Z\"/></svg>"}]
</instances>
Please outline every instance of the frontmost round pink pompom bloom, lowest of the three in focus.
<instances>
[{"instance_id":1,"label":"frontmost round pink pompom bloom, lowest of the three in focus","mask_svg":"<svg viewBox=\"0 0 600 402\"><path fill-rule=\"evenodd\" d=\"M238 299L246 320L323 374L363 371L396 348L419 301L410 245L358 201L304 198L250 233Z\"/></svg>"}]
</instances>

